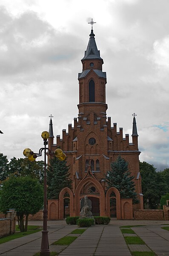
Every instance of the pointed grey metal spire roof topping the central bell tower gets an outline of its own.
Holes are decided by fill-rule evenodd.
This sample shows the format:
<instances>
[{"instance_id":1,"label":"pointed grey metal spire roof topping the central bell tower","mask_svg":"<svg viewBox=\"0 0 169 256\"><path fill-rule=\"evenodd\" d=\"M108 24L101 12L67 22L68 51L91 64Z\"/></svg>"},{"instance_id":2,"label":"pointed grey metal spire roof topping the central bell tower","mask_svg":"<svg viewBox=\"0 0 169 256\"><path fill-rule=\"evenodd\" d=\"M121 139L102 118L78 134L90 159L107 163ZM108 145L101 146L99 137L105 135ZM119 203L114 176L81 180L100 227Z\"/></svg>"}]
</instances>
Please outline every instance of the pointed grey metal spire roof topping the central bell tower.
<instances>
[{"instance_id":1,"label":"pointed grey metal spire roof topping the central bell tower","mask_svg":"<svg viewBox=\"0 0 169 256\"><path fill-rule=\"evenodd\" d=\"M100 57L100 51L97 50L97 45L95 42L95 34L93 33L93 29L91 30L89 43L88 43L87 49L85 51L85 56L83 57L82 60L84 60L84 59L102 59Z\"/></svg>"}]
</instances>

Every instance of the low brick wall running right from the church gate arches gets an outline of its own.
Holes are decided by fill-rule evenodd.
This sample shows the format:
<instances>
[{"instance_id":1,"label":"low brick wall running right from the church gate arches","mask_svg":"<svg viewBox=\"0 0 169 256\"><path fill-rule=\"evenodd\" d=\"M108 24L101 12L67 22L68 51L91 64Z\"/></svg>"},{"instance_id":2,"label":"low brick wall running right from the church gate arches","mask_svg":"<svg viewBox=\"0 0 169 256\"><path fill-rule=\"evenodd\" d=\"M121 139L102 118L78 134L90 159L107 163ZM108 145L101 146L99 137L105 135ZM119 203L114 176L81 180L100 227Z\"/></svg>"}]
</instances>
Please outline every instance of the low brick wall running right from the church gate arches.
<instances>
[{"instance_id":1,"label":"low brick wall running right from the church gate arches","mask_svg":"<svg viewBox=\"0 0 169 256\"><path fill-rule=\"evenodd\" d=\"M163 220L163 210L137 210L134 211L135 220Z\"/></svg>"}]
</instances>

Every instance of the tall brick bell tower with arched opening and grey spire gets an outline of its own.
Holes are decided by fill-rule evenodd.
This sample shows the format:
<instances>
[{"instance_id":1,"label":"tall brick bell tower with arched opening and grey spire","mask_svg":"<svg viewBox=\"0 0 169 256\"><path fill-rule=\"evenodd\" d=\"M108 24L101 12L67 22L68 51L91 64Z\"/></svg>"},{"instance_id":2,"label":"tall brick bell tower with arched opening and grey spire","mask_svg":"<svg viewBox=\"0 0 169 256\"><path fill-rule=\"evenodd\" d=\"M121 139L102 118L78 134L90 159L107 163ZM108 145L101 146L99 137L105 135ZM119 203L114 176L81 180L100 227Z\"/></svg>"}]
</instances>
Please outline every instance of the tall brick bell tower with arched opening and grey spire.
<instances>
[{"instance_id":1,"label":"tall brick bell tower with arched opening and grey spire","mask_svg":"<svg viewBox=\"0 0 169 256\"><path fill-rule=\"evenodd\" d=\"M106 72L102 71L103 59L100 57L100 51L97 50L93 29L81 62L83 70L78 74L79 113L87 116L93 110L97 116L100 116L100 113L106 114Z\"/></svg>"}]
</instances>

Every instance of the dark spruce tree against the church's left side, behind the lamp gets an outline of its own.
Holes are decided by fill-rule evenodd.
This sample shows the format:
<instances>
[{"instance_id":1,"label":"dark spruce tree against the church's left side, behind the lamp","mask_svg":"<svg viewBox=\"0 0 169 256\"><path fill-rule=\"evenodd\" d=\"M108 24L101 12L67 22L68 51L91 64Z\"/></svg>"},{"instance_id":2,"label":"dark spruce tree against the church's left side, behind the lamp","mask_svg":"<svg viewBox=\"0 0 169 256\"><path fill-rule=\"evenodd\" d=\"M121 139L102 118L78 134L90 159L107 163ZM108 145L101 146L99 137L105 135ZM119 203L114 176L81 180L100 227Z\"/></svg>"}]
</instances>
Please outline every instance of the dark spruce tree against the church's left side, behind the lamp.
<instances>
[{"instance_id":1,"label":"dark spruce tree against the church's left side, behind the lamp","mask_svg":"<svg viewBox=\"0 0 169 256\"><path fill-rule=\"evenodd\" d=\"M47 173L48 199L58 199L63 188L72 188L69 166L66 160L60 161L56 157L50 159Z\"/></svg>"}]
</instances>

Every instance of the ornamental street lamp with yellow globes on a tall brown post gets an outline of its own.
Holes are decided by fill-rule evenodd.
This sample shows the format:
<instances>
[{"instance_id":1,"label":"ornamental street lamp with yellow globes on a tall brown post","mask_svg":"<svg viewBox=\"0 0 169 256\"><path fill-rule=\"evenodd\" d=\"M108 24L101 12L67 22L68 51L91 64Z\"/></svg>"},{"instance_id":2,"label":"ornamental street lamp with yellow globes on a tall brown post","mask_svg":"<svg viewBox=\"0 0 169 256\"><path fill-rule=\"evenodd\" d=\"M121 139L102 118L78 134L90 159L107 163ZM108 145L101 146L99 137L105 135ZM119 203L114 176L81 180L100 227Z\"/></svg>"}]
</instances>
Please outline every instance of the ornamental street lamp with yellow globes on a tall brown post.
<instances>
[{"instance_id":1,"label":"ornamental street lamp with yellow globes on a tall brown post","mask_svg":"<svg viewBox=\"0 0 169 256\"><path fill-rule=\"evenodd\" d=\"M41 147L39 153L34 153L30 148L23 150L23 155L28 157L28 159L33 162L38 156L42 156L44 150L44 206L43 206L43 231L42 231L42 241L40 248L40 256L50 256L49 250L49 241L48 241L48 230L47 230L47 221L48 221L48 209L47 209L47 189L46 189L46 150L49 150L46 145L48 144L49 132L42 132L41 137L43 138L44 147ZM65 153L60 148L54 150L54 153L51 153L49 150L49 155L56 156L60 161L66 159Z\"/></svg>"}]
</instances>

